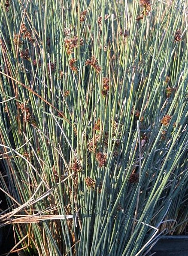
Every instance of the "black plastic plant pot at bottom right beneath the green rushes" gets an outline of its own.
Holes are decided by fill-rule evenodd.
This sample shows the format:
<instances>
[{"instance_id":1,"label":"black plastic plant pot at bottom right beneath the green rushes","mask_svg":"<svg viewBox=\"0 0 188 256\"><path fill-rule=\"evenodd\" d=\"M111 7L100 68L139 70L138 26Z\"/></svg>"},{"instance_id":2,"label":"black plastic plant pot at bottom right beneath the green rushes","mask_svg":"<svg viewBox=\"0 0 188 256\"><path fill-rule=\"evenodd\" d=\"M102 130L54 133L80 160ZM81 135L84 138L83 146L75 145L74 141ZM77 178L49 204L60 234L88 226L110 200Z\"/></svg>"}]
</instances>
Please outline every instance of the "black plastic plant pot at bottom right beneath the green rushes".
<instances>
[{"instance_id":1,"label":"black plastic plant pot at bottom right beneath the green rushes","mask_svg":"<svg viewBox=\"0 0 188 256\"><path fill-rule=\"evenodd\" d=\"M151 253L155 256L188 256L188 236L161 236Z\"/></svg>"}]
</instances>

